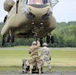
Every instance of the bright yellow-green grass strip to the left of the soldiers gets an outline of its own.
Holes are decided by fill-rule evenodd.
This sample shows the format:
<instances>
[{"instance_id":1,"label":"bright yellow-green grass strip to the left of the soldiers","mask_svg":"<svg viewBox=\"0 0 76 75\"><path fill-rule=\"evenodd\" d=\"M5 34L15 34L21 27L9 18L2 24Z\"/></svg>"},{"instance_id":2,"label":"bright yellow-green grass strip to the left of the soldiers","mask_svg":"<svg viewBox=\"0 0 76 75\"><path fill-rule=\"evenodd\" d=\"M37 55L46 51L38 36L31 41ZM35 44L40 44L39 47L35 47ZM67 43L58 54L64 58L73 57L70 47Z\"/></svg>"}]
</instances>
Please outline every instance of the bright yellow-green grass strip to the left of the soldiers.
<instances>
[{"instance_id":1,"label":"bright yellow-green grass strip to the left of the soldiers","mask_svg":"<svg viewBox=\"0 0 76 75\"><path fill-rule=\"evenodd\" d=\"M20 66L24 58L29 58L27 50L0 50L0 66Z\"/></svg>"}]
</instances>

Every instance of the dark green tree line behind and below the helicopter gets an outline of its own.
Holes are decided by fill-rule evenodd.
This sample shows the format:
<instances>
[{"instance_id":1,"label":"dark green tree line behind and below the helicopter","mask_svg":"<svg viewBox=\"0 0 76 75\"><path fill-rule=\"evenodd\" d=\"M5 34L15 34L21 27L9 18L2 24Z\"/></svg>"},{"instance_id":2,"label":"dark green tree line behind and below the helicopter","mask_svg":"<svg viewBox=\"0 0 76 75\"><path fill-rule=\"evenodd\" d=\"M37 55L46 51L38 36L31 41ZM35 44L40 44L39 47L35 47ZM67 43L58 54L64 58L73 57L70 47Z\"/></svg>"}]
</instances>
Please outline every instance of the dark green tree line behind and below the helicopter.
<instances>
[{"instance_id":1,"label":"dark green tree line behind and below the helicopter","mask_svg":"<svg viewBox=\"0 0 76 75\"><path fill-rule=\"evenodd\" d=\"M3 27L4 23L0 23L0 31ZM52 44L50 42L50 47L76 47L76 21L70 21L68 23L66 22L60 22L57 23L56 29L52 31L52 35L54 36L54 43ZM1 46L1 35L0 35L0 46ZM30 46L32 41L34 41L33 38L29 39L21 39L21 38L15 38L14 43L7 43L5 44L6 47L10 46ZM43 39L45 42L45 38Z\"/></svg>"}]
</instances>

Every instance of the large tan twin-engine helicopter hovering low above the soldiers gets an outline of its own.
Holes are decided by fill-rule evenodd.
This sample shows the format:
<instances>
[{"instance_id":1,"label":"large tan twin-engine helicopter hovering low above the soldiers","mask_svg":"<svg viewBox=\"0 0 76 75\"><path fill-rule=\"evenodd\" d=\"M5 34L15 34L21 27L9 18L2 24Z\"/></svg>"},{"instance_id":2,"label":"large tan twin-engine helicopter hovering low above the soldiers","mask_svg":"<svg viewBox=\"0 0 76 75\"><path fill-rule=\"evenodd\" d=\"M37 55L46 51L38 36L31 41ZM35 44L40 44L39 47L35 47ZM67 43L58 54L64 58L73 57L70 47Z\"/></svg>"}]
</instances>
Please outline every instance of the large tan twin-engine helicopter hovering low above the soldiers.
<instances>
[{"instance_id":1,"label":"large tan twin-engine helicopter hovering low above the soldiers","mask_svg":"<svg viewBox=\"0 0 76 75\"><path fill-rule=\"evenodd\" d=\"M42 38L46 37L47 43L54 42L51 36L56 28L56 20L52 15L52 8L58 0L5 0L4 10L8 15L4 18L5 25L1 30L2 46L14 37Z\"/></svg>"}]
</instances>

